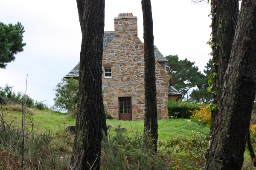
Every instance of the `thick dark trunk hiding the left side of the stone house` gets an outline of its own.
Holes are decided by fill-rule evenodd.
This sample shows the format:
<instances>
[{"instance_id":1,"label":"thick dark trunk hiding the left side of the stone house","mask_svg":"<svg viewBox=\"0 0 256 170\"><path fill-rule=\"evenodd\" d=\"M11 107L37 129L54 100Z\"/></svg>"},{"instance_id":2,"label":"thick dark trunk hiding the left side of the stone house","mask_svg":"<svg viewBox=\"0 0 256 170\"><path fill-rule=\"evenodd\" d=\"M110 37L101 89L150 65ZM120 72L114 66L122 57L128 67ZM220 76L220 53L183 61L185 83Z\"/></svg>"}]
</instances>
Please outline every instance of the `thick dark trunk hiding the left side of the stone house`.
<instances>
[{"instance_id":1,"label":"thick dark trunk hiding the left side of the stone house","mask_svg":"<svg viewBox=\"0 0 256 170\"><path fill-rule=\"evenodd\" d=\"M70 168L99 170L102 137L103 133L107 134L102 99L105 0L77 0L77 6L78 11L80 10L83 38L79 66L79 102Z\"/></svg>"}]
</instances>

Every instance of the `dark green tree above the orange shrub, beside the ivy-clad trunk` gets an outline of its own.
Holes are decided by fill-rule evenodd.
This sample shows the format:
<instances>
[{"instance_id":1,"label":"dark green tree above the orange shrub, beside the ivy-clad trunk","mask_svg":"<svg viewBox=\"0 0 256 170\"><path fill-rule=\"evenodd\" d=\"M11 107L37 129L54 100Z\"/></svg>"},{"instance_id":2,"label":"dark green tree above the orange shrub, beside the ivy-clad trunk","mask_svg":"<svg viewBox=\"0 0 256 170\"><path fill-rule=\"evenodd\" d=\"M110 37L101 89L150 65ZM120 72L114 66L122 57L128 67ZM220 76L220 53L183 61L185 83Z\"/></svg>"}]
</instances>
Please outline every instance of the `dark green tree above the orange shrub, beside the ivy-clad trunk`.
<instances>
[{"instance_id":1,"label":"dark green tree above the orange shrub, beside the ivy-clad trunk","mask_svg":"<svg viewBox=\"0 0 256 170\"><path fill-rule=\"evenodd\" d=\"M211 74L211 70L212 70L212 60L209 59L209 62L207 62L207 65L204 66L206 68L206 70L204 70L204 74L201 77L201 84L197 85L197 89L191 92L190 94L190 98L192 100L195 100L197 102L203 102L203 103L210 103L211 101L211 96L210 93L208 92L207 88L210 88L210 85L212 84L211 79L212 77L210 77Z\"/></svg>"}]
</instances>

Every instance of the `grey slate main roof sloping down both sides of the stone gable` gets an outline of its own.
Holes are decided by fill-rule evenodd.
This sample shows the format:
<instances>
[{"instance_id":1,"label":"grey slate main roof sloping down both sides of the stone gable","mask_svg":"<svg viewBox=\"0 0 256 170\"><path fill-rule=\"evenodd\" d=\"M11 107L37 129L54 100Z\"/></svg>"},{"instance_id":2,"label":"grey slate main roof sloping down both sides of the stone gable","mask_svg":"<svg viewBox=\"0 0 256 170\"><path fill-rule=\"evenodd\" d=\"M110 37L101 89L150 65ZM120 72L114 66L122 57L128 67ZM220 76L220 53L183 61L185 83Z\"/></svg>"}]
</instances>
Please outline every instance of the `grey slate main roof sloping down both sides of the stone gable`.
<instances>
[{"instance_id":1,"label":"grey slate main roof sloping down both sides of the stone gable","mask_svg":"<svg viewBox=\"0 0 256 170\"><path fill-rule=\"evenodd\" d=\"M103 52L108 48L108 45L112 42L114 39L114 31L105 31L104 37L103 37ZM155 53L155 59L158 62L168 62L167 59L163 57L163 54L160 53L158 48L154 45L154 53ZM71 78L71 77L79 77L79 63L66 75L64 78Z\"/></svg>"}]
</instances>

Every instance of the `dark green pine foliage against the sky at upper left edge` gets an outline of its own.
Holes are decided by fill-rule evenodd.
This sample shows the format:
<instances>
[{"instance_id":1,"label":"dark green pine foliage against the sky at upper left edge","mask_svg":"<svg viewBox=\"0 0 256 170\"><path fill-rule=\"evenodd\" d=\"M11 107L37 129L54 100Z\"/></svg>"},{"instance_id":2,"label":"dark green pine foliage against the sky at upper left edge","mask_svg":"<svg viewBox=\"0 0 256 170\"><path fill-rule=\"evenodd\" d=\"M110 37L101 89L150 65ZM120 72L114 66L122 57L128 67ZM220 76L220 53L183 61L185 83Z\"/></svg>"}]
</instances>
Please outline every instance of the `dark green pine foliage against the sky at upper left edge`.
<instances>
[{"instance_id":1,"label":"dark green pine foliage against the sky at upper left edge","mask_svg":"<svg viewBox=\"0 0 256 170\"><path fill-rule=\"evenodd\" d=\"M6 63L14 61L14 55L23 51L26 45L22 43L24 32L19 22L14 26L0 23L0 68L6 68Z\"/></svg>"}]
</instances>

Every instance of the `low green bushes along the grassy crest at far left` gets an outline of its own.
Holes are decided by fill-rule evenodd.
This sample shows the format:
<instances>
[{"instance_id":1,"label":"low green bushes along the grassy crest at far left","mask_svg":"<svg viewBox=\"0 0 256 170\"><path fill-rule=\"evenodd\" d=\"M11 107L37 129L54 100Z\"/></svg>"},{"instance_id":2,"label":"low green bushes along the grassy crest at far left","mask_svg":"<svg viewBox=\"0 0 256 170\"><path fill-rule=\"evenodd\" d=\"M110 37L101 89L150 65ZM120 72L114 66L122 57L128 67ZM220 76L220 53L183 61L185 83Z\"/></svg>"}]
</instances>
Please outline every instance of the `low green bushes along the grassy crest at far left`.
<instances>
[{"instance_id":1,"label":"low green bushes along the grassy crest at far left","mask_svg":"<svg viewBox=\"0 0 256 170\"><path fill-rule=\"evenodd\" d=\"M7 102L21 104L25 94L23 92L17 92L17 94L15 94L15 91L12 90L13 87L14 86L10 86L9 84L6 84L4 87L0 87L0 96L5 98ZM28 94L26 95L26 105L29 108L34 107L34 99L32 99Z\"/></svg>"}]
</instances>

